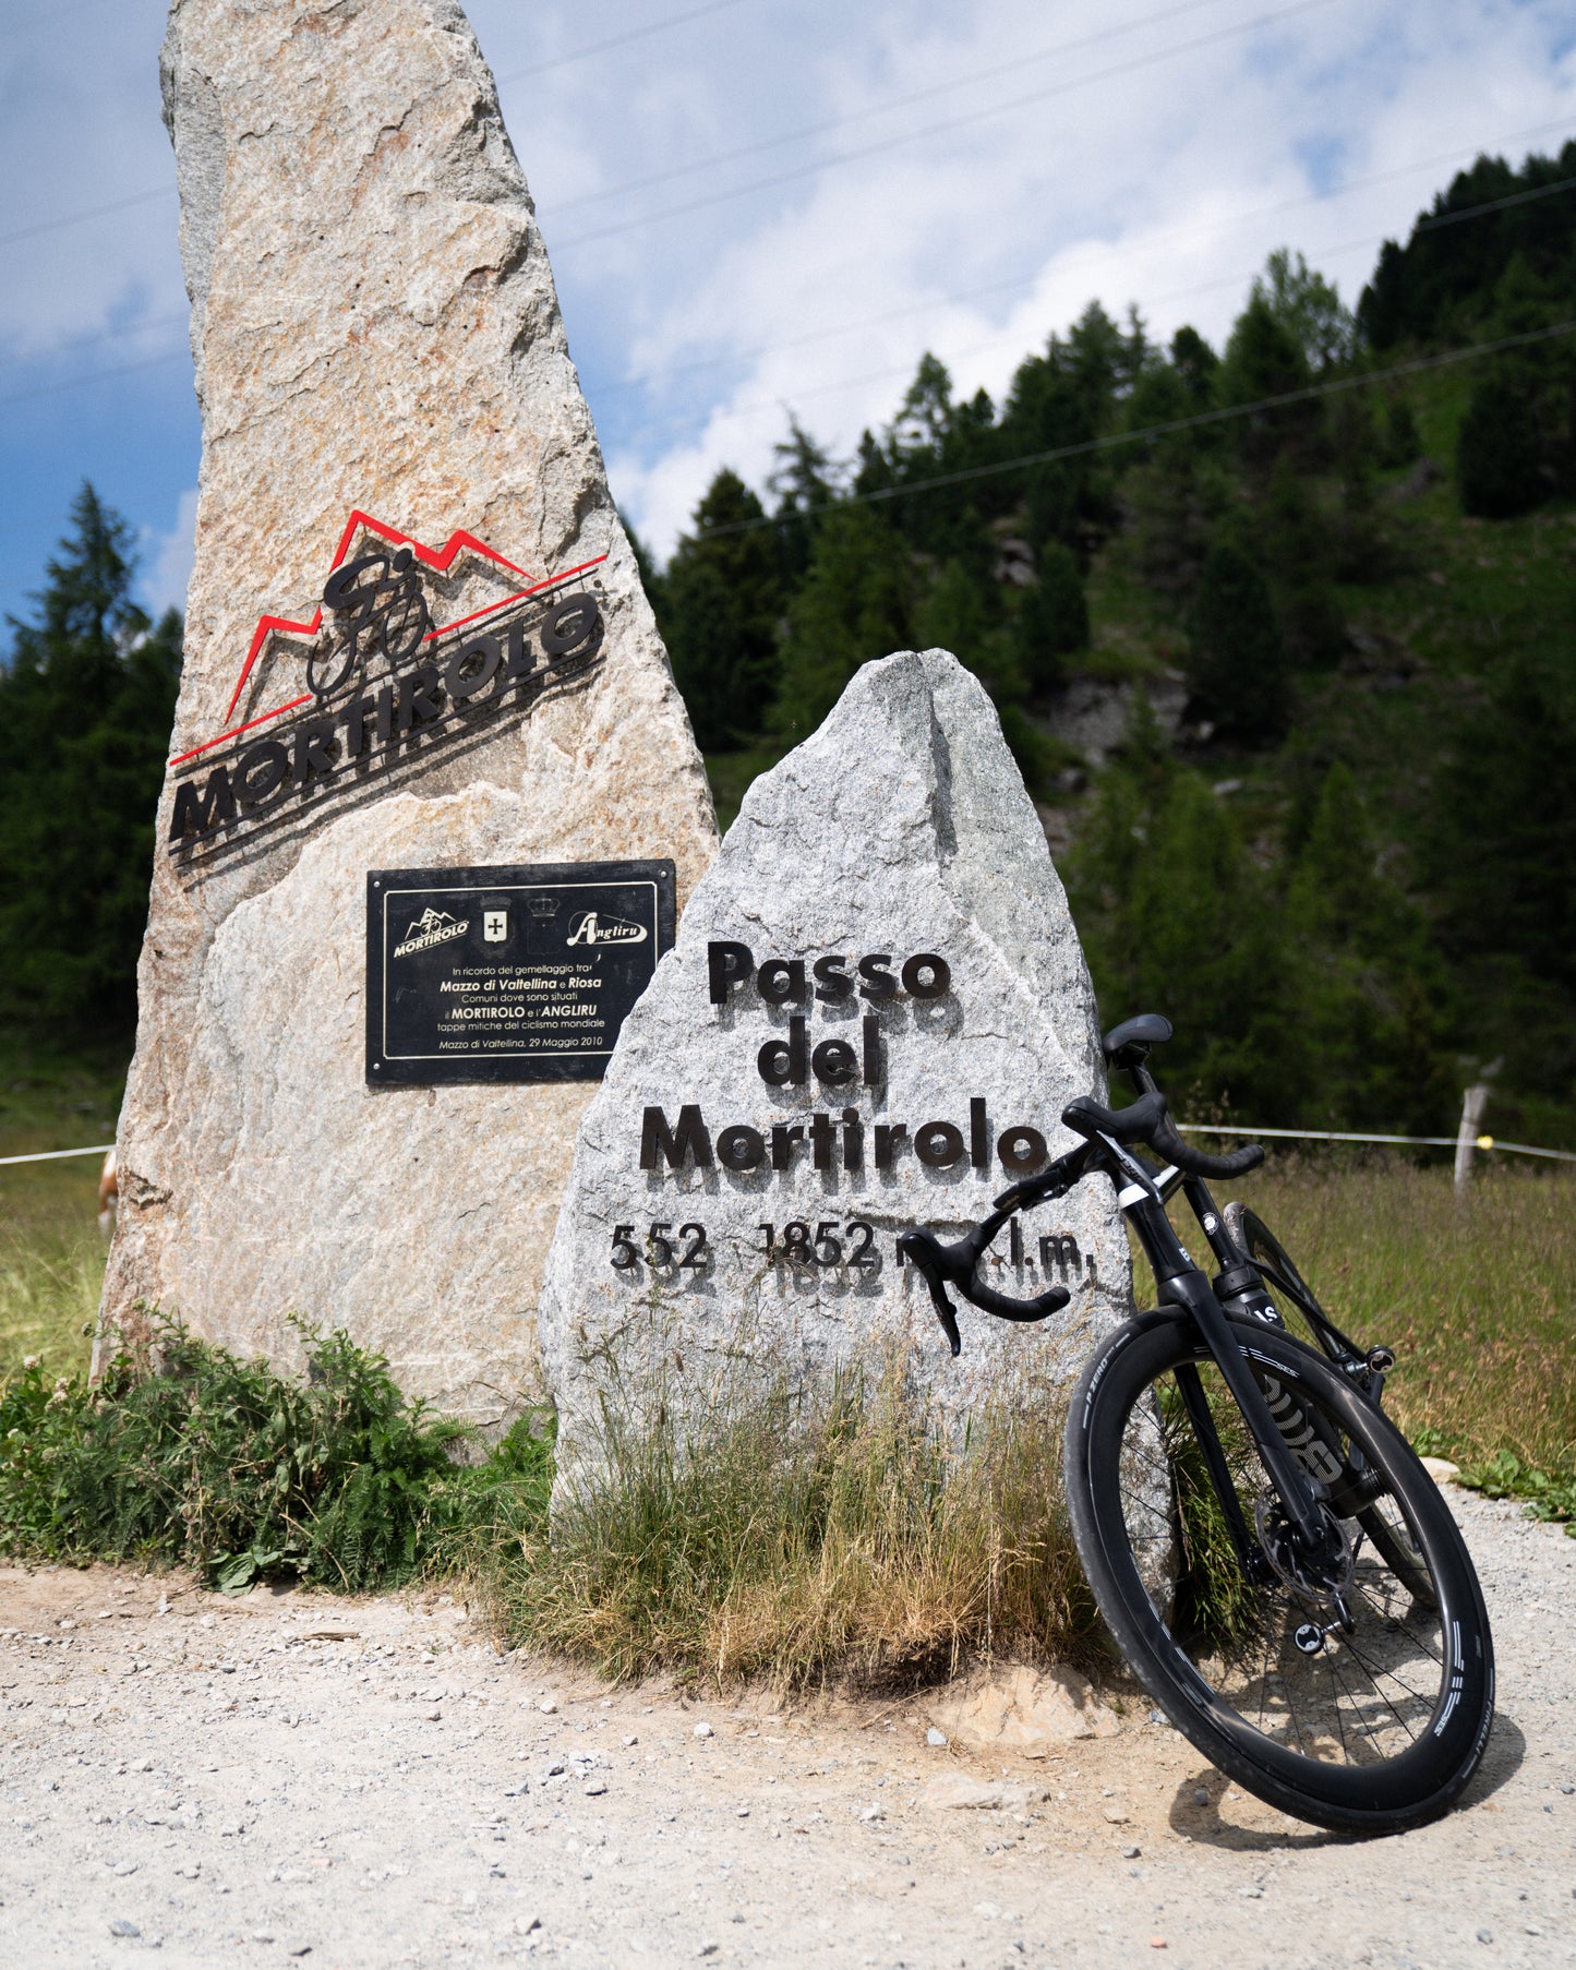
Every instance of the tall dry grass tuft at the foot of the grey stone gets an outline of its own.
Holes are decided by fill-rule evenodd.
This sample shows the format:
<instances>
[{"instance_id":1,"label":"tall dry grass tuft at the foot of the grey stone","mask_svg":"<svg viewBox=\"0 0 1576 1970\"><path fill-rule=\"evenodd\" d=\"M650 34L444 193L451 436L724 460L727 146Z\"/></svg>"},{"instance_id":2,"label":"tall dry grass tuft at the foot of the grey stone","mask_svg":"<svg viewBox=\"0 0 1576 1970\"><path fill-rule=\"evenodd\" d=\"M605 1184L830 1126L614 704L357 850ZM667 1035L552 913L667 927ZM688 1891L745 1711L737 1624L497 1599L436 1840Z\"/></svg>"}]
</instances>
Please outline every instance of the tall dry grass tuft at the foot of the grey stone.
<instances>
[{"instance_id":1,"label":"tall dry grass tuft at the foot of the grey stone","mask_svg":"<svg viewBox=\"0 0 1576 1970\"><path fill-rule=\"evenodd\" d=\"M892 1375L849 1375L810 1416L770 1395L703 1440L615 1434L552 1544L473 1560L510 1635L611 1676L802 1688L1089 1657L1060 1436L1042 1399L950 1446Z\"/></svg>"}]
</instances>

